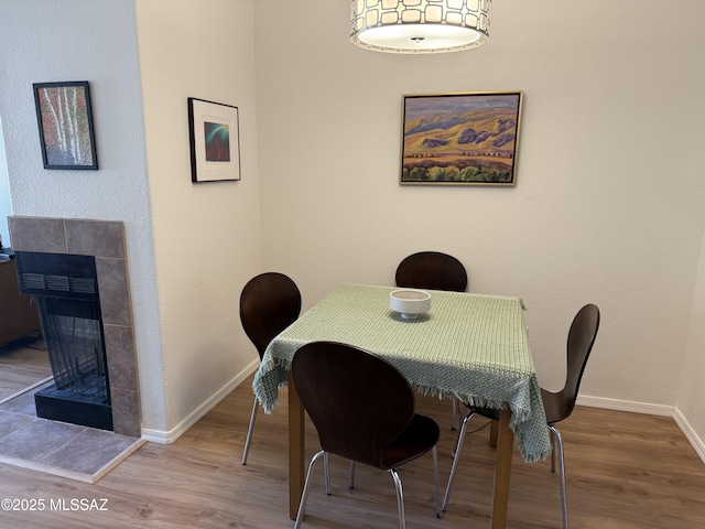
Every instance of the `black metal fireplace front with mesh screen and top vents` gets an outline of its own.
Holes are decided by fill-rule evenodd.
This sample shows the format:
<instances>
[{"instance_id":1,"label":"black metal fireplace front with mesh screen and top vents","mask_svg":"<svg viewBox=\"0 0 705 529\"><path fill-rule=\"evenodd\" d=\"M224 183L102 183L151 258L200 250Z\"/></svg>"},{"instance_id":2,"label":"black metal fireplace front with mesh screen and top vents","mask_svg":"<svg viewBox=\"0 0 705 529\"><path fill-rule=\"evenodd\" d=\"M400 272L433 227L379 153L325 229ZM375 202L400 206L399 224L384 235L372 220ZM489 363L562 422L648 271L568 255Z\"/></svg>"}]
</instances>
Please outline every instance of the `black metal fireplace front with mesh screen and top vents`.
<instances>
[{"instance_id":1,"label":"black metal fireplace front with mesh screen and top vents","mask_svg":"<svg viewBox=\"0 0 705 529\"><path fill-rule=\"evenodd\" d=\"M36 300L54 384L34 395L45 419L112 430L93 256L17 251L20 292Z\"/></svg>"}]
</instances>

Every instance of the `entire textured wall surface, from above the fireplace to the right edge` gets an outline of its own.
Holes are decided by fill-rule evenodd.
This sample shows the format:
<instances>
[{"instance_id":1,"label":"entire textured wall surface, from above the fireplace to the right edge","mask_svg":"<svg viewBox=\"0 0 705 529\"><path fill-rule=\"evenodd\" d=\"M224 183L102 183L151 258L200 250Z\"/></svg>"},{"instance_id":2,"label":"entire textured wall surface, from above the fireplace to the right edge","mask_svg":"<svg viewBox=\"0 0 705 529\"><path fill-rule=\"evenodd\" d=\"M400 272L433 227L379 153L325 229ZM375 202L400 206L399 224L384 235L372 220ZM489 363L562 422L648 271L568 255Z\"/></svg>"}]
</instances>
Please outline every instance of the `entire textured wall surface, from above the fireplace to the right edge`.
<instances>
[{"instance_id":1,"label":"entire textured wall surface, from above the fireplace to the right edge","mask_svg":"<svg viewBox=\"0 0 705 529\"><path fill-rule=\"evenodd\" d=\"M257 365L237 316L249 277L289 273L311 306L343 281L391 284L432 248L471 290L524 299L544 386L561 384L573 314L597 303L583 398L677 406L697 441L705 4L672 3L675 18L655 0L502 0L481 48L400 56L348 42L348 2L311 17L289 0L4 0L14 214L126 222L151 439ZM28 87L69 78L91 83L98 172L41 166ZM402 94L503 89L525 95L516 187L399 186ZM191 184L189 96L239 106L241 182Z\"/></svg>"}]
</instances>

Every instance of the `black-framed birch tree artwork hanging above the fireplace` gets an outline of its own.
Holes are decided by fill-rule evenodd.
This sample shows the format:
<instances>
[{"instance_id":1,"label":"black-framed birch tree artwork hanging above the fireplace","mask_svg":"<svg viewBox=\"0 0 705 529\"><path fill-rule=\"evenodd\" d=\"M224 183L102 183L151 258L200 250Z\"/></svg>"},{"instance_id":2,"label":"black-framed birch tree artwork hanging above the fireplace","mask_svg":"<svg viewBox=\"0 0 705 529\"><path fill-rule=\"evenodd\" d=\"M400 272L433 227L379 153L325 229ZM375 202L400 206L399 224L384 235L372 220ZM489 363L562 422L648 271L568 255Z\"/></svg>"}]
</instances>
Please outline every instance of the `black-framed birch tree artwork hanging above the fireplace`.
<instances>
[{"instance_id":1,"label":"black-framed birch tree artwork hanging above the fireplace","mask_svg":"<svg viewBox=\"0 0 705 529\"><path fill-rule=\"evenodd\" d=\"M97 170L88 83L32 86L44 169Z\"/></svg>"}]
</instances>

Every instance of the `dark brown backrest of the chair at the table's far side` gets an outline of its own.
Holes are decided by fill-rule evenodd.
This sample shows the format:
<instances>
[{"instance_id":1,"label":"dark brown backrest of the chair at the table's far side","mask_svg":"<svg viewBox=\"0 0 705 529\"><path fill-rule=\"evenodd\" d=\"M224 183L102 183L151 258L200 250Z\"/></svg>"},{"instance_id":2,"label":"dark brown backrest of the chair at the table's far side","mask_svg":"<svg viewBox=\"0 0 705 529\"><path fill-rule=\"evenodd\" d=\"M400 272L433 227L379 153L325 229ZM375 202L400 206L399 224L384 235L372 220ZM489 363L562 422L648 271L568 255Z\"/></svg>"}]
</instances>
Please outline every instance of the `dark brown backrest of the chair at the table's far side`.
<instances>
[{"instance_id":1,"label":"dark brown backrest of the chair at the table's far side","mask_svg":"<svg viewBox=\"0 0 705 529\"><path fill-rule=\"evenodd\" d=\"M397 267L397 285L465 292L467 271L455 257L440 251L420 251Z\"/></svg>"}]
</instances>

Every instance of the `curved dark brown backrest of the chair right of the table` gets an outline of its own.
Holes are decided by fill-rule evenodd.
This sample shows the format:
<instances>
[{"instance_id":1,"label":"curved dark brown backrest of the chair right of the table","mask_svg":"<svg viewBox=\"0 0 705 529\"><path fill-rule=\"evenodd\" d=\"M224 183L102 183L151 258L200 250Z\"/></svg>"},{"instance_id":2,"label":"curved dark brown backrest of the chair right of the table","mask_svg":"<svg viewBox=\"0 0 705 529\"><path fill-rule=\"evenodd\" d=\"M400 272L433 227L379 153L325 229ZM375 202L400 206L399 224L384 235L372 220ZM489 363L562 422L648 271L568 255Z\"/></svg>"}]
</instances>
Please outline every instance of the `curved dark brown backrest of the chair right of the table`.
<instances>
[{"instance_id":1,"label":"curved dark brown backrest of the chair right of the table","mask_svg":"<svg viewBox=\"0 0 705 529\"><path fill-rule=\"evenodd\" d=\"M592 303L583 306L573 319L567 339L565 386L560 392L563 409L557 410L558 415L562 417L555 422L565 419L573 412L583 371L585 370L587 358L590 356L590 350L593 350L598 328L599 309Z\"/></svg>"}]
</instances>

